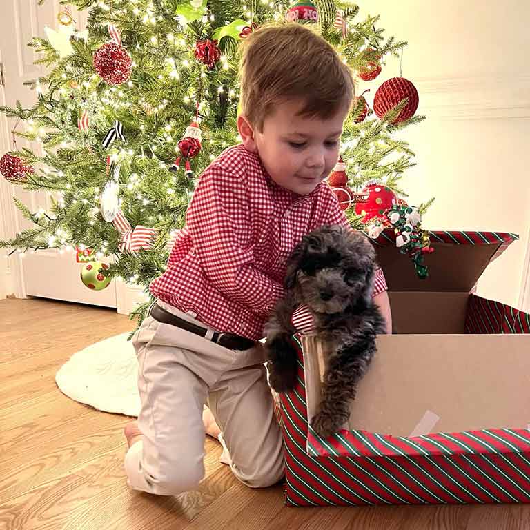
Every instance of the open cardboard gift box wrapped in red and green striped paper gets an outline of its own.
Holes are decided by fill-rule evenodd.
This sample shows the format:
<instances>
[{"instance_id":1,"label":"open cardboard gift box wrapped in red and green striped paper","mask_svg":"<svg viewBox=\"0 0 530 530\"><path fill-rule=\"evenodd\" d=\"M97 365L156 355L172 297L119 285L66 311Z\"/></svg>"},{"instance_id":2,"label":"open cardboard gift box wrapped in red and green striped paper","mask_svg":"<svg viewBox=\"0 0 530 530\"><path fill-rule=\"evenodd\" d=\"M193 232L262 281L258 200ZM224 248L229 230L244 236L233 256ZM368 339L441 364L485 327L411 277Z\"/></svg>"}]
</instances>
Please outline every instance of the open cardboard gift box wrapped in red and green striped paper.
<instances>
[{"instance_id":1,"label":"open cardboard gift box wrapped in red and green striped paper","mask_svg":"<svg viewBox=\"0 0 530 530\"><path fill-rule=\"evenodd\" d=\"M281 395L286 504L530 502L530 316L469 291L512 234L431 233L429 279L377 240L396 335L344 429L308 429L326 345L297 335L300 384Z\"/></svg>"}]
</instances>

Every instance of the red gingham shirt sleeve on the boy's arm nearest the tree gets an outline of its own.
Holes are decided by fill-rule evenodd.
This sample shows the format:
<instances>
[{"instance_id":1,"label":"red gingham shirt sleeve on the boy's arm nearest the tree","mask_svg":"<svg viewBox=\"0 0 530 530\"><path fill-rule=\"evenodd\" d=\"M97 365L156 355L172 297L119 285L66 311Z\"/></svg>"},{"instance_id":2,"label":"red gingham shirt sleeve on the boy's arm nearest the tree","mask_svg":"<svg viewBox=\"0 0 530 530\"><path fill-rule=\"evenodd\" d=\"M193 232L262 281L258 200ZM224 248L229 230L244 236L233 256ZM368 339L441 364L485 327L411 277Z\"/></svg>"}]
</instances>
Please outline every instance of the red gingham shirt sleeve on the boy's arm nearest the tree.
<instances>
[{"instance_id":1,"label":"red gingham shirt sleeve on the boy's arm nearest the tree","mask_svg":"<svg viewBox=\"0 0 530 530\"><path fill-rule=\"evenodd\" d=\"M210 166L200 177L186 214L193 252L221 293L266 316L283 288L254 266L251 218L243 179Z\"/></svg>"}]
</instances>

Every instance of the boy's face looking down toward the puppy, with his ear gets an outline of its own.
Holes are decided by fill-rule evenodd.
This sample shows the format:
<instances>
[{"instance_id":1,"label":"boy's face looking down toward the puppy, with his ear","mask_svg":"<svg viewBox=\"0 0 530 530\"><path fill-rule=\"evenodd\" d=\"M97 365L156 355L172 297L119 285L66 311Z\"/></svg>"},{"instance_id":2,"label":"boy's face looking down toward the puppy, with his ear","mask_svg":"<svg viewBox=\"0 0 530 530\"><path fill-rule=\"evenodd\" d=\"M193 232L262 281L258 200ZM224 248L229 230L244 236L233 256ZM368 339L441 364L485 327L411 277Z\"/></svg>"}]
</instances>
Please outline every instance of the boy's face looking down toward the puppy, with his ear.
<instances>
[{"instance_id":1,"label":"boy's face looking down toward the puppy, with his ear","mask_svg":"<svg viewBox=\"0 0 530 530\"><path fill-rule=\"evenodd\" d=\"M262 131L252 128L244 117L239 117L238 125L244 145L259 154L271 179L298 195L307 195L337 163L348 109L321 119L298 115L301 108L301 101L279 104L264 120Z\"/></svg>"}]
</instances>

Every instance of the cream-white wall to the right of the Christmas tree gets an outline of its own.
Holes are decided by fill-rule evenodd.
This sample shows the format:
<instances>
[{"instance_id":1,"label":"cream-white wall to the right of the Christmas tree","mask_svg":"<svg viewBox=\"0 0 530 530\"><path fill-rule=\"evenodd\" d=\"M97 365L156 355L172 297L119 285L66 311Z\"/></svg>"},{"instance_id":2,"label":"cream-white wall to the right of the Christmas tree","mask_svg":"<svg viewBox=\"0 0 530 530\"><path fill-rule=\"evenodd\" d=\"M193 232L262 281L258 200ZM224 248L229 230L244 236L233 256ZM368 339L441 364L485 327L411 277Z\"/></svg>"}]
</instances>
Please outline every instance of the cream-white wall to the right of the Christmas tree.
<instances>
[{"instance_id":1,"label":"cream-white wall to the right of the Christmas tree","mask_svg":"<svg viewBox=\"0 0 530 530\"><path fill-rule=\"evenodd\" d=\"M518 233L520 242L491 264L478 293L522 304L530 227L530 2L359 3L362 13L380 14L389 35L409 42L403 76L418 88L418 112L427 116L404 131L418 162L402 181L410 202L436 197L426 228ZM380 77L360 89L371 88L373 97L382 81L399 75L399 61L389 59Z\"/></svg>"}]
</instances>

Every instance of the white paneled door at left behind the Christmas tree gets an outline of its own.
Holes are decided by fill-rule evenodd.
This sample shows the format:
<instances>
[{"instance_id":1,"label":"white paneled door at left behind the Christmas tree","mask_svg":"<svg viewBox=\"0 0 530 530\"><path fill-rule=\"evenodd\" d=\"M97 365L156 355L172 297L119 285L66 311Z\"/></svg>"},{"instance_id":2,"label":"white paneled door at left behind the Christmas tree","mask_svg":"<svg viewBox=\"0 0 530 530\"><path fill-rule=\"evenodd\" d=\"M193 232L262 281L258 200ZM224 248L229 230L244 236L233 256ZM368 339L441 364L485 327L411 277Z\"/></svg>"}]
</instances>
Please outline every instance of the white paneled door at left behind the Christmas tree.
<instances>
[{"instance_id":1,"label":"white paneled door at left behind the Christmas tree","mask_svg":"<svg viewBox=\"0 0 530 530\"><path fill-rule=\"evenodd\" d=\"M44 27L57 28L58 0L48 0L38 6L37 0L1 0L0 1L0 61L3 64L4 86L0 86L0 102L14 106L17 99L24 107L32 106L35 92L24 86L24 81L43 75L41 66L35 66L35 52L27 43L34 36L46 37ZM74 12L75 17L76 13ZM86 18L86 17L85 17ZM79 24L78 20L78 24ZM83 21L81 21L83 22ZM13 148L10 130L15 120L0 117L0 156ZM19 124L24 126L23 124ZM23 139L17 139L17 148L23 146L38 150L37 145L28 145ZM49 197L45 193L28 192L21 186L14 186L0 178L0 237L13 237L15 233L30 228L32 224L19 214L14 207L12 196L16 195L30 210L49 206ZM0 251L0 296L6 290L17 297L38 296L82 302L97 306L117 307L117 285L112 282L104 291L90 291L79 278L81 264L75 259L72 250L46 250L25 254L14 254L8 259ZM5 271L3 271L5 269ZM3 285L2 285L3 284ZM123 283L121 288L123 288ZM118 297L122 300L123 293ZM126 308L124 312L130 308Z\"/></svg>"}]
</instances>

